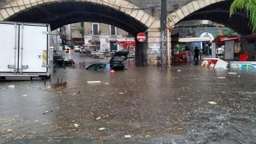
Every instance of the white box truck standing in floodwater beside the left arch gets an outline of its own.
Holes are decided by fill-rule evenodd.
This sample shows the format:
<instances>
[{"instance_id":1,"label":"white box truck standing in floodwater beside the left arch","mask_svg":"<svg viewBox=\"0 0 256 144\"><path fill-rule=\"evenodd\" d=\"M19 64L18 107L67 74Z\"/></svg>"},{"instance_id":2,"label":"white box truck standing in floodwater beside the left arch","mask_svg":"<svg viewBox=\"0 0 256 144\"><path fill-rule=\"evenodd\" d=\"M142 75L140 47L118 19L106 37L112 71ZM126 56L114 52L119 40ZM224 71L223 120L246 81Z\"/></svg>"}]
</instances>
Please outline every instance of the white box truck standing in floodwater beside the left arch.
<instances>
[{"instance_id":1,"label":"white box truck standing in floodwater beside the left arch","mask_svg":"<svg viewBox=\"0 0 256 144\"><path fill-rule=\"evenodd\" d=\"M0 21L0 80L50 76L52 43L49 24Z\"/></svg>"}]
</instances>

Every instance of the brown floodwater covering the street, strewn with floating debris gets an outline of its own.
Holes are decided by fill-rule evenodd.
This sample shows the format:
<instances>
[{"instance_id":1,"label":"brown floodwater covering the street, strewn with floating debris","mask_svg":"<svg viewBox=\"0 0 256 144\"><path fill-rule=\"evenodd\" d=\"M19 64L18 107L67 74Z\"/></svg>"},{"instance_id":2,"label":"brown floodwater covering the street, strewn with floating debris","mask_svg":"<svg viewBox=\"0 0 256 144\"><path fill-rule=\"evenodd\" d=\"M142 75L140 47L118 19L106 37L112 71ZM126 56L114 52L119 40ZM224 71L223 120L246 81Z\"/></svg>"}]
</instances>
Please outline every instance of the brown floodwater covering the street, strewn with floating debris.
<instances>
[{"instance_id":1,"label":"brown floodwater covering the street, strewn with floating debris","mask_svg":"<svg viewBox=\"0 0 256 144\"><path fill-rule=\"evenodd\" d=\"M0 143L21 138L256 142L255 71L228 74L188 64L161 72L135 67L131 59L127 71L95 72L85 68L104 59L73 52L65 57L76 66L55 69L51 81L63 78L66 88L53 89L50 81L44 86L41 80L1 82Z\"/></svg>"}]
</instances>

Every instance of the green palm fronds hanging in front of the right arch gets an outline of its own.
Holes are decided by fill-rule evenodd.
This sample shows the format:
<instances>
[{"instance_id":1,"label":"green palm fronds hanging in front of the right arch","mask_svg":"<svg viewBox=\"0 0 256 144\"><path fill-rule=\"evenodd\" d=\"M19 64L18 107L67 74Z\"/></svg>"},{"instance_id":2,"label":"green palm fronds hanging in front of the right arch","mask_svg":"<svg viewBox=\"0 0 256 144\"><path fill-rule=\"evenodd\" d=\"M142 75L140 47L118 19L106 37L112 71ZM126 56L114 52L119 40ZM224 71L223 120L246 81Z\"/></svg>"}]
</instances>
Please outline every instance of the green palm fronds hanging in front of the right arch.
<instances>
[{"instance_id":1,"label":"green palm fronds hanging in front of the right arch","mask_svg":"<svg viewBox=\"0 0 256 144\"><path fill-rule=\"evenodd\" d=\"M256 0L234 0L230 6L230 17L236 11L244 10L247 17L250 18L252 33L256 32Z\"/></svg>"}]
</instances>

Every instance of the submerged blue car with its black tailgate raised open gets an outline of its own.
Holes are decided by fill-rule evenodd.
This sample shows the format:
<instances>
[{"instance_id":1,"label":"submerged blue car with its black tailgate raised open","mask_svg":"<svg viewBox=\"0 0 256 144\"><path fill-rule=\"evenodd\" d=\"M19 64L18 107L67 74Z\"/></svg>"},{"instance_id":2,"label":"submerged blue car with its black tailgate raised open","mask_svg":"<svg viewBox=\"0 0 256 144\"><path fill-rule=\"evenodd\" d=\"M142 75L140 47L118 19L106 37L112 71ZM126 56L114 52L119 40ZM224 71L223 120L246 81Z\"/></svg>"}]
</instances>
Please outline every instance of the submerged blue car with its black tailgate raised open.
<instances>
[{"instance_id":1,"label":"submerged blue car with its black tailgate raised open","mask_svg":"<svg viewBox=\"0 0 256 144\"><path fill-rule=\"evenodd\" d=\"M86 70L96 70L96 71L116 71L116 70L126 70L124 66L124 61L127 60L129 52L121 51L116 52L111 58L109 63L96 63L90 65Z\"/></svg>"}]
</instances>

